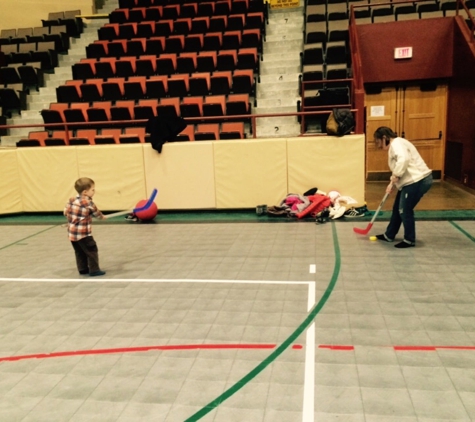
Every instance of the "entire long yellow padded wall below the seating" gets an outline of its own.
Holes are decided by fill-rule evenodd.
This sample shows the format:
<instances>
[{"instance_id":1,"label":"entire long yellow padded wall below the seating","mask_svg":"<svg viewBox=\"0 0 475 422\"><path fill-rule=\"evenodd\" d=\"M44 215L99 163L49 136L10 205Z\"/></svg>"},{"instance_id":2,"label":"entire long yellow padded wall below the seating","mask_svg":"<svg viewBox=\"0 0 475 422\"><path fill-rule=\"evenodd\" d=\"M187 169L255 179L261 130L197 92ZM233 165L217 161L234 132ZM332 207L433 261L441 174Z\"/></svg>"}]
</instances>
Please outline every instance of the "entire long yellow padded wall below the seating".
<instances>
[{"instance_id":1,"label":"entire long yellow padded wall below the seating","mask_svg":"<svg viewBox=\"0 0 475 422\"><path fill-rule=\"evenodd\" d=\"M127 210L158 189L159 209L277 205L317 187L364 203L364 135L18 148L0 151L0 213L58 212L74 182L96 182L103 211Z\"/></svg>"}]
</instances>

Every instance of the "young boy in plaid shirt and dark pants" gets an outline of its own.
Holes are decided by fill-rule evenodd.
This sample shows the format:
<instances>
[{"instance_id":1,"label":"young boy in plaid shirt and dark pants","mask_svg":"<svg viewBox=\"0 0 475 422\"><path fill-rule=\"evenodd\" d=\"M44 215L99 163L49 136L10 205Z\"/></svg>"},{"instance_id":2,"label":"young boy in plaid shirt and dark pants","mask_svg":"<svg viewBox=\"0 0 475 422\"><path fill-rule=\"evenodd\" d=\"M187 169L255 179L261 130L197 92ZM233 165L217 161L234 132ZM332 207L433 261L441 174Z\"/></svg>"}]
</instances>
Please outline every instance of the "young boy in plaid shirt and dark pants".
<instances>
[{"instance_id":1,"label":"young boy in plaid shirt and dark pants","mask_svg":"<svg viewBox=\"0 0 475 422\"><path fill-rule=\"evenodd\" d=\"M68 219L68 236L76 254L79 274L91 277L104 275L106 272L99 268L97 244L91 234L92 216L101 220L106 218L92 202L96 193L94 181L81 177L76 180L74 189L78 195L69 199L63 214Z\"/></svg>"}]
</instances>

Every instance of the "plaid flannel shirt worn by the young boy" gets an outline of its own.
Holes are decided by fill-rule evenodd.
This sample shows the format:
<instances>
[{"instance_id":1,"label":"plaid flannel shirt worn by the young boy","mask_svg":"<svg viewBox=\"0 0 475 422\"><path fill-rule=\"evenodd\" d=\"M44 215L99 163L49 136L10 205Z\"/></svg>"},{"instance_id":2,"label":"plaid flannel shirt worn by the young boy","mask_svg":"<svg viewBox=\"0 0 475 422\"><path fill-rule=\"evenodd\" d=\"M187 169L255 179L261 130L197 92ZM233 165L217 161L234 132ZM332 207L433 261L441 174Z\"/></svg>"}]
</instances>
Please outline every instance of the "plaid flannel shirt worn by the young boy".
<instances>
[{"instance_id":1,"label":"plaid flannel shirt worn by the young boy","mask_svg":"<svg viewBox=\"0 0 475 422\"><path fill-rule=\"evenodd\" d=\"M63 214L68 219L68 236L72 242L92 235L92 216L103 217L92 199L81 195L69 199Z\"/></svg>"}]
</instances>

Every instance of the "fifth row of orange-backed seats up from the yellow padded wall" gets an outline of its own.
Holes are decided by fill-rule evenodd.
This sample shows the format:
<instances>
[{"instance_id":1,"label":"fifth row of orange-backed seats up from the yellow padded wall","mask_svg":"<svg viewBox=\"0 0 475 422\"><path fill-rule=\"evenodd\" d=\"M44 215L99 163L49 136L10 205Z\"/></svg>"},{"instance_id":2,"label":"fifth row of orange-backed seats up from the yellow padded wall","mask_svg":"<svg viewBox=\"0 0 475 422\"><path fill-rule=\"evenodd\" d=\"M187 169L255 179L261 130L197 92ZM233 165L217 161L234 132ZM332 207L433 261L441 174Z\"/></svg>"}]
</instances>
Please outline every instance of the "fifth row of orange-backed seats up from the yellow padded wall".
<instances>
[{"instance_id":1,"label":"fifth row of orange-backed seats up from the yellow padded wall","mask_svg":"<svg viewBox=\"0 0 475 422\"><path fill-rule=\"evenodd\" d=\"M158 56L163 53L198 53L201 51L239 50L256 48L262 50L259 30L210 32L207 34L170 35L168 37L134 38L131 40L97 40L86 47L89 59L101 57L138 57L144 54Z\"/></svg>"}]
</instances>

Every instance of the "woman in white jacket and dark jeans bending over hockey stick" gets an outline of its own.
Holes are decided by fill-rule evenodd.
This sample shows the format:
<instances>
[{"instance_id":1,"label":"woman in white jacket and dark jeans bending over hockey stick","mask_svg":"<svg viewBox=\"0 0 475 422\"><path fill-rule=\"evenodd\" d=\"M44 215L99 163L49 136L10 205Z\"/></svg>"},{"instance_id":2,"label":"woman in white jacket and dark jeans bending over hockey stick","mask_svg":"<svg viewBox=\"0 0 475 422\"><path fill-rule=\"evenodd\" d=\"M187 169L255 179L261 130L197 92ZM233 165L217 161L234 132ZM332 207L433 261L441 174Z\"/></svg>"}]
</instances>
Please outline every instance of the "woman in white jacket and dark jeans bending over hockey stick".
<instances>
[{"instance_id":1,"label":"woman in white jacket and dark jeans bending over hockey stick","mask_svg":"<svg viewBox=\"0 0 475 422\"><path fill-rule=\"evenodd\" d=\"M390 128L378 128L374 132L374 140L379 148L388 151L392 175L386 192L391 192L394 186L398 190L388 227L384 234L376 237L392 242L402 224L404 240L394 246L416 246L414 208L432 186L432 170L427 167L416 147L407 139L398 137Z\"/></svg>"}]
</instances>

